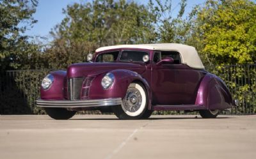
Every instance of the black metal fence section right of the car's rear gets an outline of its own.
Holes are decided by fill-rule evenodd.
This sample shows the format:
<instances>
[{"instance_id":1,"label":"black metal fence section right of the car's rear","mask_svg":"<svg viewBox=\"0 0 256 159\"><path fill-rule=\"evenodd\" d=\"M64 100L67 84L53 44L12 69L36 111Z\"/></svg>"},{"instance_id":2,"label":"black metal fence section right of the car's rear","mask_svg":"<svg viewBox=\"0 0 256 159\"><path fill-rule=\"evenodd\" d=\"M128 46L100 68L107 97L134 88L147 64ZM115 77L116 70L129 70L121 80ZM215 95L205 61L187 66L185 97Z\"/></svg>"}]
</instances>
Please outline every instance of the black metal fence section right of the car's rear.
<instances>
[{"instance_id":1,"label":"black metal fence section right of the car's rear","mask_svg":"<svg viewBox=\"0 0 256 159\"><path fill-rule=\"evenodd\" d=\"M256 64L211 66L207 70L223 79L238 100L231 114L256 113Z\"/></svg>"}]
</instances>

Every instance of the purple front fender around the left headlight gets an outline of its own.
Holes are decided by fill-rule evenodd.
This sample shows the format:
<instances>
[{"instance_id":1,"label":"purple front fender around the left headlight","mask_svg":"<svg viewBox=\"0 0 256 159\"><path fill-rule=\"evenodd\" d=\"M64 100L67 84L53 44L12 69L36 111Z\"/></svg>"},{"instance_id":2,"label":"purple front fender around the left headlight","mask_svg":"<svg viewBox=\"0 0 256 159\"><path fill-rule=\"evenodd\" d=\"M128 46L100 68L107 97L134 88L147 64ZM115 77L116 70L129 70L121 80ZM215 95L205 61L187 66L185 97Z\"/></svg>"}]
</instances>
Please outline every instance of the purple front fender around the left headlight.
<instances>
[{"instance_id":1,"label":"purple front fender around the left headlight","mask_svg":"<svg viewBox=\"0 0 256 159\"><path fill-rule=\"evenodd\" d=\"M40 89L41 93L41 99L42 100L63 100L64 99L64 91L63 91L63 86L64 86L64 79L67 75L66 71L55 71L55 72L50 72L51 75L54 77L54 81L52 83L52 86L44 90Z\"/></svg>"}]
</instances>

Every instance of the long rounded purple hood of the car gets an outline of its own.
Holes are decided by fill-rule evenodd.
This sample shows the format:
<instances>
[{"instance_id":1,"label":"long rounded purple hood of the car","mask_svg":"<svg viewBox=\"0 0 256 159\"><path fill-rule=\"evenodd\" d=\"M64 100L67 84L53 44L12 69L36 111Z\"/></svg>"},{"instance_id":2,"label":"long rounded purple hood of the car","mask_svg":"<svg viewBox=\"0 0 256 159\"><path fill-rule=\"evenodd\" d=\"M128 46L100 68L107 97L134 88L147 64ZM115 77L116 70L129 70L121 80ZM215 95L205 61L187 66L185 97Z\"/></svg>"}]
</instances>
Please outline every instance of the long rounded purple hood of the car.
<instances>
[{"instance_id":1,"label":"long rounded purple hood of the car","mask_svg":"<svg viewBox=\"0 0 256 159\"><path fill-rule=\"evenodd\" d=\"M68 66L67 77L94 76L111 70L131 70L141 74L145 72L145 66L133 63L76 63Z\"/></svg>"}]
</instances>

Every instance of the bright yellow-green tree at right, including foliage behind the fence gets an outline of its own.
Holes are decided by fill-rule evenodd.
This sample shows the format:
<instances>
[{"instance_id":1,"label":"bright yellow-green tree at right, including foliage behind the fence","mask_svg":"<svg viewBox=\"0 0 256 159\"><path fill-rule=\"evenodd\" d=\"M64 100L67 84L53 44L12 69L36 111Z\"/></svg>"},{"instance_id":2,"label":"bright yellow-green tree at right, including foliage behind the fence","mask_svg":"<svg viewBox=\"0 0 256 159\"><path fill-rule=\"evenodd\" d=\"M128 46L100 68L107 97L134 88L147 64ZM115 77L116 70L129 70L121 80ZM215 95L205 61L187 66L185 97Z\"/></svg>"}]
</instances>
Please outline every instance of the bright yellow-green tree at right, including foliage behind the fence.
<instances>
[{"instance_id":1,"label":"bright yellow-green tree at right, including foliage behind the fence","mask_svg":"<svg viewBox=\"0 0 256 159\"><path fill-rule=\"evenodd\" d=\"M239 107L255 113L256 4L249 0L207 0L190 13L186 43L199 51L206 69L225 81ZM211 65L211 66L209 66Z\"/></svg>"}]
</instances>

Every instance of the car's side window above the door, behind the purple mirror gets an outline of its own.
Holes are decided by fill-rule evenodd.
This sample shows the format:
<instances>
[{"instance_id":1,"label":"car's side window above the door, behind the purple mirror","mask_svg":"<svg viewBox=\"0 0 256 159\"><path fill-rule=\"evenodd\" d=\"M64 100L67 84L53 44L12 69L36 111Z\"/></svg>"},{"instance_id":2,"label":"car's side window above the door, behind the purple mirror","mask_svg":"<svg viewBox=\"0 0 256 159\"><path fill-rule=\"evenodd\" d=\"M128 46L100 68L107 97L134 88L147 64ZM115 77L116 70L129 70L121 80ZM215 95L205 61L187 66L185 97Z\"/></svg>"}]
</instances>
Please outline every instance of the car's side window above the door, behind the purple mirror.
<instances>
[{"instance_id":1,"label":"car's side window above the door, behind the purple mirror","mask_svg":"<svg viewBox=\"0 0 256 159\"><path fill-rule=\"evenodd\" d=\"M157 63L161 59L164 59L165 57L172 57L174 59L173 64L180 64L180 53L177 51L161 51L161 52L155 52L154 53L154 63Z\"/></svg>"}]
</instances>

